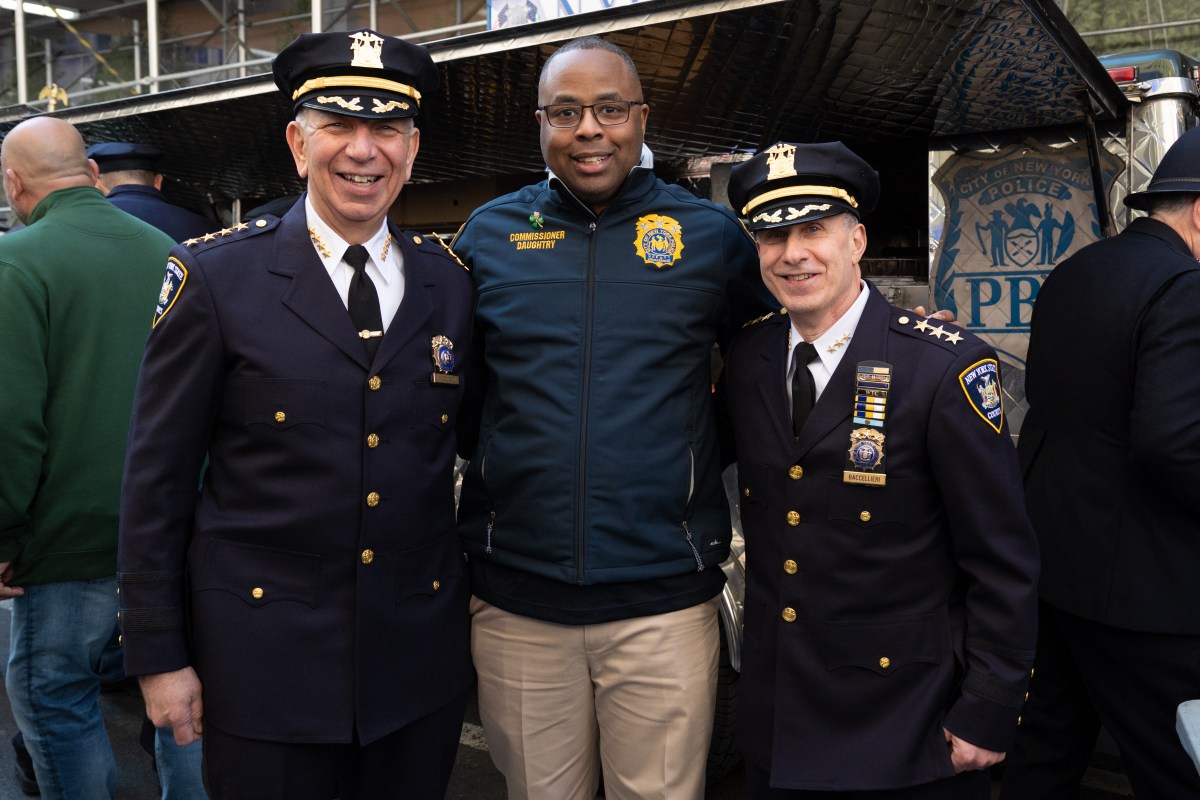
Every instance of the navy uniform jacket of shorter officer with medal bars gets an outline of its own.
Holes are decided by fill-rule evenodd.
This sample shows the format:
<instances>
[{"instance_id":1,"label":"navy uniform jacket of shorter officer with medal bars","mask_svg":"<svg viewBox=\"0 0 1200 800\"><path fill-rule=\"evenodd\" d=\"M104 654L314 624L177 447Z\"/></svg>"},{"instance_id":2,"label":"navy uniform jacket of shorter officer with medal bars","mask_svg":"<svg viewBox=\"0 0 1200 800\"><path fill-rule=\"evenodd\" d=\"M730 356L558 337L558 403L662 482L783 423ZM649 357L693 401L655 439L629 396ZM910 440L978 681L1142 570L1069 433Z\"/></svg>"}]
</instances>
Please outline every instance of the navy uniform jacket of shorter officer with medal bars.
<instances>
[{"instance_id":1,"label":"navy uniform jacket of shorter officer with medal bars","mask_svg":"<svg viewBox=\"0 0 1200 800\"><path fill-rule=\"evenodd\" d=\"M997 407L970 399L979 375L998 383L995 353L868 290L799 439L787 318L745 327L726 366L748 571L739 733L778 788L949 777L943 726L1004 751L1033 661L1037 543L1016 452L985 417ZM892 365L886 486L842 475L868 360Z\"/></svg>"}]
</instances>

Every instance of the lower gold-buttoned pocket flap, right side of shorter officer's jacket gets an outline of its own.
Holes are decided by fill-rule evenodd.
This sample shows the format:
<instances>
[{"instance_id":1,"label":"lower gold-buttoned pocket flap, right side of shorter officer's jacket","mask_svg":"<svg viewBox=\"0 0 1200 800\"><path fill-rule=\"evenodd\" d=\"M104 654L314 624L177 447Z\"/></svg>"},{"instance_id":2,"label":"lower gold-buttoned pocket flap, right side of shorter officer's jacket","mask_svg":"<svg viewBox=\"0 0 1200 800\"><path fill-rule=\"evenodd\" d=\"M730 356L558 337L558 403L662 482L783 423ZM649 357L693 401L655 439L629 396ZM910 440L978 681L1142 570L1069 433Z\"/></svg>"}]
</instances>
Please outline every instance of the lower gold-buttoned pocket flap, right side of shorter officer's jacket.
<instances>
[{"instance_id":1,"label":"lower gold-buttoned pocket flap, right side of shorter officer's jacket","mask_svg":"<svg viewBox=\"0 0 1200 800\"><path fill-rule=\"evenodd\" d=\"M912 663L941 661L932 614L826 622L826 667L859 667L890 675Z\"/></svg>"}]
</instances>

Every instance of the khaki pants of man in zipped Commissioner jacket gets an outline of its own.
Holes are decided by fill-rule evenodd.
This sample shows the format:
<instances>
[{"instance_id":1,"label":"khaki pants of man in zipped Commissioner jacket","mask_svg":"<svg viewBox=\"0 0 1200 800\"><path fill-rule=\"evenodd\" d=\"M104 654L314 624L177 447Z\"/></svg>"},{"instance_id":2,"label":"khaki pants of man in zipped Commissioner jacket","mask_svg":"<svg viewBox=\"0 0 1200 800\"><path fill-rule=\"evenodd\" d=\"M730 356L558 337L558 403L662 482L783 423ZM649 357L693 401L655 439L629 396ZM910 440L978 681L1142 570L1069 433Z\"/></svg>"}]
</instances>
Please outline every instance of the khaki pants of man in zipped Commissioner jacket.
<instances>
[{"instance_id":1,"label":"khaki pants of man in zipped Commissioner jacket","mask_svg":"<svg viewBox=\"0 0 1200 800\"><path fill-rule=\"evenodd\" d=\"M558 625L472 599L487 748L510 800L700 800L720 638L713 599Z\"/></svg>"}]
</instances>

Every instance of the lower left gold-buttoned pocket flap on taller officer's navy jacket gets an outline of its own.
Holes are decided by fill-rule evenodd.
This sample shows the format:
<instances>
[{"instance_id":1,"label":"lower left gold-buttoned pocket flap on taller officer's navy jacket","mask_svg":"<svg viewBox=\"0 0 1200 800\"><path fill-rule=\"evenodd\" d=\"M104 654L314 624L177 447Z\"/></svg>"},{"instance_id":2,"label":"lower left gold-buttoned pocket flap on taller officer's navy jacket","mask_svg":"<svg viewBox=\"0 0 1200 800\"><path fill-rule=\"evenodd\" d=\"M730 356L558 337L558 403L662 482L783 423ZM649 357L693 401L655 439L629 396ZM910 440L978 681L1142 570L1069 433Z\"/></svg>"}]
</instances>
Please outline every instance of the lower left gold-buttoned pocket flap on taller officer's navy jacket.
<instances>
[{"instance_id":1,"label":"lower left gold-buttoned pocket flap on taller officer's navy jacket","mask_svg":"<svg viewBox=\"0 0 1200 800\"><path fill-rule=\"evenodd\" d=\"M192 585L196 591L228 591L251 606L288 600L316 608L320 557L217 539L208 543Z\"/></svg>"}]
</instances>

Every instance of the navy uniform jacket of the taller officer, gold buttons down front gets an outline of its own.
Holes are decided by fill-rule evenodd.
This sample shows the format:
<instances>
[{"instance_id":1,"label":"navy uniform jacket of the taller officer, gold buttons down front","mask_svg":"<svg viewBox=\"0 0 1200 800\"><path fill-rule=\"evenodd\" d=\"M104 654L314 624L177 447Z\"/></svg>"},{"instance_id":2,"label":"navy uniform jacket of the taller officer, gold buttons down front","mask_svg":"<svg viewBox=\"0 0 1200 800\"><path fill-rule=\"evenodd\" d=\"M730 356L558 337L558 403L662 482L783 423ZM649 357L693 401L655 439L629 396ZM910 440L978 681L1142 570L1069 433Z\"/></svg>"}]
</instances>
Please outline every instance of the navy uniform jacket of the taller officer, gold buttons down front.
<instances>
[{"instance_id":1,"label":"navy uniform jacket of the taller officer, gold buttons down front","mask_svg":"<svg viewBox=\"0 0 1200 800\"><path fill-rule=\"evenodd\" d=\"M125 663L194 667L227 733L368 744L473 678L463 387L431 381L431 339L466 357L474 294L439 243L392 235L404 299L373 365L304 203L172 251L124 485Z\"/></svg>"}]
</instances>

